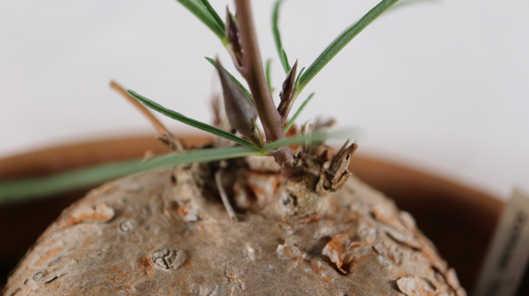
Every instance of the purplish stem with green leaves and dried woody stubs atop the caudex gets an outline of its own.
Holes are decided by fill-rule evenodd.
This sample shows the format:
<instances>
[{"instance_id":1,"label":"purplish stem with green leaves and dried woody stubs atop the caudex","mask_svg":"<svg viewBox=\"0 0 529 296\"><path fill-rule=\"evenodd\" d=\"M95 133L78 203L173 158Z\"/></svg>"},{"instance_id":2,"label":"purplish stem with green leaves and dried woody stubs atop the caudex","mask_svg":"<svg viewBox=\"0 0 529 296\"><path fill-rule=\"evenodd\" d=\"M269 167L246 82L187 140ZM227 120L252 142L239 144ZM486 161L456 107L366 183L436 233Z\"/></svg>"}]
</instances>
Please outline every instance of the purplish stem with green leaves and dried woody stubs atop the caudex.
<instances>
[{"instance_id":1,"label":"purplish stem with green leaves and dried woody stubs atop the caudex","mask_svg":"<svg viewBox=\"0 0 529 296\"><path fill-rule=\"evenodd\" d=\"M178 0L192 14L195 14L203 24L219 39L230 53L235 69L240 72L249 86L246 89L219 60L206 58L219 73L223 90L223 104L231 130L220 129L201 121L185 117L181 113L169 110L160 104L147 99L135 91L125 91L115 82L111 82L113 89L122 92L129 99L133 98L136 106L142 110L153 123L160 134L160 138L175 152L148 161L132 160L120 164L92 167L66 174L44 177L41 179L24 179L0 183L0 202L13 202L35 196L47 196L56 192L79 186L91 186L105 180L122 177L151 167L174 166L196 162L210 162L230 158L249 156L273 156L279 164L281 174L290 181L303 184L311 191L334 191L345 182L348 177L347 163L350 155L357 148L356 143L348 142L338 150L330 163L314 167L319 161L327 161L327 152L309 159L307 149L294 152L289 145L321 144L328 137L326 130L332 121L306 124L300 131L294 130L293 123L299 112L312 99L314 93L300 105L299 110L291 114L292 106L301 91L307 86L318 72L332 60L358 33L383 14L397 0L382 0L367 12L357 23L350 25L343 33L328 45L318 58L308 68L298 71L298 62L289 63L279 34L279 8L282 0L275 3L272 13L274 41L279 54L279 61L284 69L286 78L280 91L279 106L272 100L271 82L269 79L269 65L266 69L260 55L258 37L253 21L250 0L235 0L236 12L231 14L226 9L226 21L222 21L219 14L212 8L208 0ZM220 138L226 138L230 144L216 148L200 150L185 150L181 141L174 137L162 123L144 106L156 110L172 119L180 120L192 127L205 130ZM218 104L217 104L218 106ZM219 113L220 110L216 110ZM260 124L259 124L260 122ZM262 131L260 129L262 127ZM288 134L292 136L287 137Z\"/></svg>"}]
</instances>

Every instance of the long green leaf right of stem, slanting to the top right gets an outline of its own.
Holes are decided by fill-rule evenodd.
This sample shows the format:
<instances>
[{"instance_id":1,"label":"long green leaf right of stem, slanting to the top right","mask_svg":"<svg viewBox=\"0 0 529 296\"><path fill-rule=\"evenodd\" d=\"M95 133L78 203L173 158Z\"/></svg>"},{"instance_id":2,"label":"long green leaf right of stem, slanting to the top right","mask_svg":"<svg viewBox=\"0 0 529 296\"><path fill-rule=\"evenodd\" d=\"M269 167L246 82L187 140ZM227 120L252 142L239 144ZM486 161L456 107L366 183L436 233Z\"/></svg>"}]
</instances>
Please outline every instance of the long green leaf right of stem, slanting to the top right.
<instances>
[{"instance_id":1,"label":"long green leaf right of stem, slanting to the top right","mask_svg":"<svg viewBox=\"0 0 529 296\"><path fill-rule=\"evenodd\" d=\"M318 74L325 65L327 65L332 58L339 53L358 33L360 33L368 24L371 24L380 14L383 14L391 5L397 3L398 0L382 0L375 7L373 7L367 14L356 23L348 27L348 29L341 33L337 39L328 45L328 47L321 53L316 61L312 62L303 76L299 78L299 87L297 92L300 93L305 86L311 81L316 74Z\"/></svg>"}]
</instances>

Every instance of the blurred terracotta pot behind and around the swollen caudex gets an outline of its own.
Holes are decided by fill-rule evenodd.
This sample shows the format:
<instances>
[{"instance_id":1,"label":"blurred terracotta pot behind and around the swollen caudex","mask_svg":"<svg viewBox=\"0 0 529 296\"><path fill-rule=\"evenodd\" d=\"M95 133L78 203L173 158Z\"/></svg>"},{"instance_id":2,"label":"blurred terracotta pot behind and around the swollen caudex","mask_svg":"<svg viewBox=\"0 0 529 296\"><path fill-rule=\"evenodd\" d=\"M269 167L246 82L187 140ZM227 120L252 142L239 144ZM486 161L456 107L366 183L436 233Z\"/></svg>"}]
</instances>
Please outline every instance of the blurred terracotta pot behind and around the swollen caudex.
<instances>
[{"instance_id":1,"label":"blurred terracotta pot behind and around the swollen caudex","mask_svg":"<svg viewBox=\"0 0 529 296\"><path fill-rule=\"evenodd\" d=\"M207 142L187 137L189 145ZM47 148L0 159L0 179L36 177L95 164L142 157L145 151L166 152L152 137L119 138ZM442 256L456 268L465 289L471 291L494 231L503 202L493 196L411 168L374 158L355 156L352 171L368 184L392 197L415 216L421 230ZM48 224L67 205L90 188L76 190L31 203L0 206L0 287L7 273L24 255ZM524 279L520 295L528 294Z\"/></svg>"}]
</instances>

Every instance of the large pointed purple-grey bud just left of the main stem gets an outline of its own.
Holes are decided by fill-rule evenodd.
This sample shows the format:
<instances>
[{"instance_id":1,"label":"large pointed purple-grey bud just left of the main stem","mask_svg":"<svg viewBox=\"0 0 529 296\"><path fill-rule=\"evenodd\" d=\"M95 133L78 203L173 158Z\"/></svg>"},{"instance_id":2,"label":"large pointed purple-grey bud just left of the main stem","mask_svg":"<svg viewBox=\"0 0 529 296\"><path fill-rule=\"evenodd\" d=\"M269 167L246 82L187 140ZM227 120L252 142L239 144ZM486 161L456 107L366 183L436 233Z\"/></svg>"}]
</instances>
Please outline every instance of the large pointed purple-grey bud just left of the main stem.
<instances>
[{"instance_id":1,"label":"large pointed purple-grey bud just left of the main stem","mask_svg":"<svg viewBox=\"0 0 529 296\"><path fill-rule=\"evenodd\" d=\"M239 86L230 79L228 72L222 68L219 60L217 60L217 71L222 84L226 117L230 122L231 128L237 129L247 138L253 138L254 121L257 119L255 106L244 92L240 90Z\"/></svg>"}]
</instances>

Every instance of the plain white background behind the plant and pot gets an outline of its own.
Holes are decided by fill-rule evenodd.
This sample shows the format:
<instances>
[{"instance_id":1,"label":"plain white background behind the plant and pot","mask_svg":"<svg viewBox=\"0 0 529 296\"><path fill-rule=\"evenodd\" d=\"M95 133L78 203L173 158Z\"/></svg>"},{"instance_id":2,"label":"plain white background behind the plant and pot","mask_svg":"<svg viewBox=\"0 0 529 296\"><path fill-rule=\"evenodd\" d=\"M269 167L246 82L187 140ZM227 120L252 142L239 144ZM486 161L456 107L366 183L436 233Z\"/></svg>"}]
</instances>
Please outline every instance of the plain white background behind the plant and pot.
<instances>
[{"instance_id":1,"label":"plain white background behind the plant and pot","mask_svg":"<svg viewBox=\"0 0 529 296\"><path fill-rule=\"evenodd\" d=\"M222 12L225 1L211 3ZM376 1L289 0L291 62L308 66ZM284 78L254 1L264 58ZM232 4L230 3L230 7ZM358 153L391 159L502 198L529 190L529 2L424 0L377 19L309 83L317 115L359 132ZM0 158L92 138L152 132L108 88L115 79L209 121L220 42L173 0L0 1ZM275 94L277 97L277 93ZM191 132L165 120L175 134Z\"/></svg>"}]
</instances>

